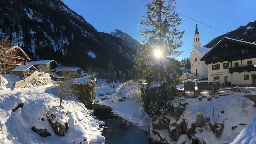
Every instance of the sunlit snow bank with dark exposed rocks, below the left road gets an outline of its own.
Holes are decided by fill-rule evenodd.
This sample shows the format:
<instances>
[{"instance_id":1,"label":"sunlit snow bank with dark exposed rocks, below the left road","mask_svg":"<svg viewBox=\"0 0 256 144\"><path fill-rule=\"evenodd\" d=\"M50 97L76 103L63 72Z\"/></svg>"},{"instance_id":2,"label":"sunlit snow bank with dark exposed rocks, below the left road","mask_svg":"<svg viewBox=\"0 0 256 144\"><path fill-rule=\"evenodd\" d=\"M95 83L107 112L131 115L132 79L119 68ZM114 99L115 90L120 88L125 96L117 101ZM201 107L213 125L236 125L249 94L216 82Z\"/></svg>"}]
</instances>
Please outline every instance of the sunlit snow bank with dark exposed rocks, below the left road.
<instances>
[{"instance_id":1,"label":"sunlit snow bank with dark exposed rocks, below the left road","mask_svg":"<svg viewBox=\"0 0 256 144\"><path fill-rule=\"evenodd\" d=\"M19 103L23 107L15 112L12 109ZM54 88L0 95L0 143L96 143L103 142L101 125L104 122L91 116L77 98L71 99L68 104L63 100L59 106L59 97L54 95ZM56 118L53 123L68 123L69 129L65 136L56 135L45 119L45 115L53 114ZM47 129L51 136L41 137L31 128Z\"/></svg>"}]
</instances>

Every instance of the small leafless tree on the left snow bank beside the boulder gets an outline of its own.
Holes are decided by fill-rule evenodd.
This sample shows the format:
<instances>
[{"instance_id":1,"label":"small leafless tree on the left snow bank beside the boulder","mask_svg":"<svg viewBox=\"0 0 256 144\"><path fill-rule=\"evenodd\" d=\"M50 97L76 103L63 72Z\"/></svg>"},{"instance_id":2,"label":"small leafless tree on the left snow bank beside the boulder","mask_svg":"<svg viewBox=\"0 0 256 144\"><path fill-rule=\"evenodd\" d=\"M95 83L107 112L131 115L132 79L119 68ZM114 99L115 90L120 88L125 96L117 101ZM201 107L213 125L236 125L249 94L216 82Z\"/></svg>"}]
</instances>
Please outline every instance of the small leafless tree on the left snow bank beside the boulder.
<instances>
[{"instance_id":1,"label":"small leafless tree on the left snow bank beside the boulder","mask_svg":"<svg viewBox=\"0 0 256 144\"><path fill-rule=\"evenodd\" d=\"M73 87L73 76L70 74L64 74L59 81L59 87L56 88L57 94L60 96L60 106L62 104L63 97L67 98L67 103L70 98L76 96L76 89Z\"/></svg>"}]
</instances>

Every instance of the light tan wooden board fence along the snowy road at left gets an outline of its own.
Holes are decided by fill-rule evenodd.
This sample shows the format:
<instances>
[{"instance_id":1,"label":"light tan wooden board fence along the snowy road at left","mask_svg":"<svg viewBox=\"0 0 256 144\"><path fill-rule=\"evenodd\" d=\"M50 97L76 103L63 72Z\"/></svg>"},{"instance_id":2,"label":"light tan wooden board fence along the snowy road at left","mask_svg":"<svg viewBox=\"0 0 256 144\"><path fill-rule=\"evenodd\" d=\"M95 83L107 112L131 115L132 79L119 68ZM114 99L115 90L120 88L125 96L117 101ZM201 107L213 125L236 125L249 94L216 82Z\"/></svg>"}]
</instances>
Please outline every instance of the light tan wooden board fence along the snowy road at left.
<instances>
[{"instance_id":1,"label":"light tan wooden board fence along the snowy road at left","mask_svg":"<svg viewBox=\"0 0 256 144\"><path fill-rule=\"evenodd\" d=\"M20 80L14 83L14 88L23 87L24 85L30 83L36 77L50 77L50 74L36 71L32 73L29 77L25 78L24 80Z\"/></svg>"}]
</instances>

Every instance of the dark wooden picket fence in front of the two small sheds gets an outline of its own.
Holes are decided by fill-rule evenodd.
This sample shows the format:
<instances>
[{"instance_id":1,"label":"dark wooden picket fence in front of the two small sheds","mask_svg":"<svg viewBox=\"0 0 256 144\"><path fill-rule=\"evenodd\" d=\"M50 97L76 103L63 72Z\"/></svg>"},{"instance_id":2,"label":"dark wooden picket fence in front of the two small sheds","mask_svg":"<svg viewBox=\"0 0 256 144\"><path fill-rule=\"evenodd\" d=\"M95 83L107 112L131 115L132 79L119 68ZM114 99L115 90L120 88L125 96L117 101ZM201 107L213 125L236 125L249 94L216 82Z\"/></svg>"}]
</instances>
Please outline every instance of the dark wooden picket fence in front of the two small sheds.
<instances>
[{"instance_id":1,"label":"dark wooden picket fence in front of the two small sheds","mask_svg":"<svg viewBox=\"0 0 256 144\"><path fill-rule=\"evenodd\" d=\"M198 96L208 96L208 95L223 95L223 94L234 94L240 92L240 87L222 88L219 90L205 90L205 91L181 91L177 92L178 96L185 97L198 97Z\"/></svg>"}]
</instances>

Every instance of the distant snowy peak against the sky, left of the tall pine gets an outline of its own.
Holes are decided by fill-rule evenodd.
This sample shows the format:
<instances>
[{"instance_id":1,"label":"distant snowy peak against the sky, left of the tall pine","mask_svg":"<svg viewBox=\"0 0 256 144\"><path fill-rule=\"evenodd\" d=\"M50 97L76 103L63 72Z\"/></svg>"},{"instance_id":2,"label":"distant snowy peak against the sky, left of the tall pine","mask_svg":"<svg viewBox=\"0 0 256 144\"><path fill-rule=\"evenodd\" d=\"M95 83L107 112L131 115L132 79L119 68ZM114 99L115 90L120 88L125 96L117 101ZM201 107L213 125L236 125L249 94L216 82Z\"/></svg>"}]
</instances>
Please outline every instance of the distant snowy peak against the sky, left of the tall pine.
<instances>
[{"instance_id":1,"label":"distant snowy peak against the sky, left of the tall pine","mask_svg":"<svg viewBox=\"0 0 256 144\"><path fill-rule=\"evenodd\" d=\"M124 41L124 43L130 48L130 50L132 50L134 53L137 53L139 51L140 42L132 38L130 35L122 32L119 29L110 32L110 34L114 37L121 38Z\"/></svg>"}]
</instances>

